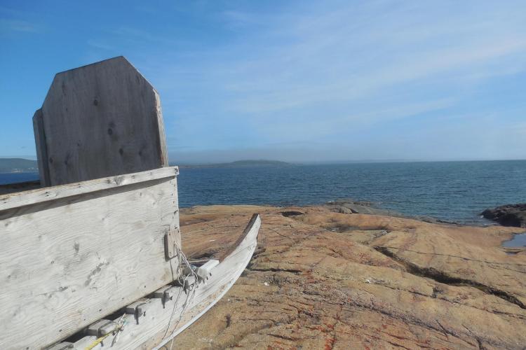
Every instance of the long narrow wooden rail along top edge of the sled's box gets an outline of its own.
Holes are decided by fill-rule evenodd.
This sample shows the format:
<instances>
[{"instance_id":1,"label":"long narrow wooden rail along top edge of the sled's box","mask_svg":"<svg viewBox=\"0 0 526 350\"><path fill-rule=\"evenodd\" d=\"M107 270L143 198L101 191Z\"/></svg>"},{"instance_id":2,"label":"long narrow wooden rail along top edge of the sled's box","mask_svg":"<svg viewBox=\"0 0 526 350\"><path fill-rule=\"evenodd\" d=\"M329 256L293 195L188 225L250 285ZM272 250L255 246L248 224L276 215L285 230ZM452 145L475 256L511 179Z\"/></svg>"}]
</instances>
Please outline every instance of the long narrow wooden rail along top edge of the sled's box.
<instances>
[{"instance_id":1,"label":"long narrow wooden rail along top edge of the sled's box","mask_svg":"<svg viewBox=\"0 0 526 350\"><path fill-rule=\"evenodd\" d=\"M51 188L38 188L36 190L30 190L22 193L0 195L0 219L2 217L1 211L6 209L22 207L29 204L46 202L50 200L58 200L76 195L83 195L84 193L107 190L109 188L126 186L133 183L164 179L177 176L178 174L179 168L164 167L160 169L149 170L147 172L109 176L107 178L83 181L80 183L68 183L67 185L53 186Z\"/></svg>"}]
</instances>

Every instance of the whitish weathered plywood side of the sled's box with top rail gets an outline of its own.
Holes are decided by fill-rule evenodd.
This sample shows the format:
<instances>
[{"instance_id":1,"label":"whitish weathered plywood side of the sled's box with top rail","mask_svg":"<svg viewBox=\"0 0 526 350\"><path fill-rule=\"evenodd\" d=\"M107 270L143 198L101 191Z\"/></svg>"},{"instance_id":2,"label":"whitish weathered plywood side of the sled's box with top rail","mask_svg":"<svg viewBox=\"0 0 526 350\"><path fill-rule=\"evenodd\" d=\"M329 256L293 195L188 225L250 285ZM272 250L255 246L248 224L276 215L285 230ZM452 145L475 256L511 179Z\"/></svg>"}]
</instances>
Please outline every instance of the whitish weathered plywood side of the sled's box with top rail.
<instances>
[{"instance_id":1,"label":"whitish weathered plywood side of the sled's box with top rail","mask_svg":"<svg viewBox=\"0 0 526 350\"><path fill-rule=\"evenodd\" d=\"M0 196L0 349L39 349L177 277L177 167Z\"/></svg>"}]
</instances>

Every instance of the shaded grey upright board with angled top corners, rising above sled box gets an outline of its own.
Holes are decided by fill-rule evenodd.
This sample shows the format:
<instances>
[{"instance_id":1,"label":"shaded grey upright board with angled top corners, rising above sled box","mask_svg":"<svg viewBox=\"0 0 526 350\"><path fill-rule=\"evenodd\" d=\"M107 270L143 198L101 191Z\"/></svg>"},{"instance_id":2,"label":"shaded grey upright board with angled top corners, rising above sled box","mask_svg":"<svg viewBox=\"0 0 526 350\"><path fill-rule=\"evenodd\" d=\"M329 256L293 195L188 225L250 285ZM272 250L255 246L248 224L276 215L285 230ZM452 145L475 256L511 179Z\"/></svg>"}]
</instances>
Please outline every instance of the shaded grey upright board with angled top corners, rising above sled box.
<instances>
[{"instance_id":1,"label":"shaded grey upright board with angled top corners, rising above sled box","mask_svg":"<svg viewBox=\"0 0 526 350\"><path fill-rule=\"evenodd\" d=\"M159 94L124 57L58 73L33 125L43 186L168 166Z\"/></svg>"}]
</instances>

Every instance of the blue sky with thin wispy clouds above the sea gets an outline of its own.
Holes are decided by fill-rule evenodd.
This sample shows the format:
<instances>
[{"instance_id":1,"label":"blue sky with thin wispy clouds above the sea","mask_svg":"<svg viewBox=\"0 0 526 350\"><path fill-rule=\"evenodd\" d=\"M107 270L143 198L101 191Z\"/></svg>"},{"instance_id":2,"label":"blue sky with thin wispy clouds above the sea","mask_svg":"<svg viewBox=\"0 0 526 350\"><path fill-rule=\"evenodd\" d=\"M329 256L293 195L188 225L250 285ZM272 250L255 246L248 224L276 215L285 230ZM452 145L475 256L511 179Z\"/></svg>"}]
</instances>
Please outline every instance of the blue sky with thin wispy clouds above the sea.
<instances>
[{"instance_id":1,"label":"blue sky with thin wispy clouds above the sea","mask_svg":"<svg viewBox=\"0 0 526 350\"><path fill-rule=\"evenodd\" d=\"M2 1L0 156L53 76L126 56L170 162L526 158L524 1Z\"/></svg>"}]
</instances>

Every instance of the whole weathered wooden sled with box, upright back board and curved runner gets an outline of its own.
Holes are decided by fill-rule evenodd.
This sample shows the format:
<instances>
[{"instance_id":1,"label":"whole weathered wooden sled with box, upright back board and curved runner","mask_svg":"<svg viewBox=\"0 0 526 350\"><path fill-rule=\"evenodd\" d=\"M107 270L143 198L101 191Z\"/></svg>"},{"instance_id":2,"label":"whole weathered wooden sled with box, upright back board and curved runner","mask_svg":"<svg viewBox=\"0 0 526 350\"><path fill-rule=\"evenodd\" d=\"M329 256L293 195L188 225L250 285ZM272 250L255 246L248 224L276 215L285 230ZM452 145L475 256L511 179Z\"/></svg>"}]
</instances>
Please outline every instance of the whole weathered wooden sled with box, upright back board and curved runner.
<instances>
[{"instance_id":1,"label":"whole weathered wooden sled with box, upright back board and curved runner","mask_svg":"<svg viewBox=\"0 0 526 350\"><path fill-rule=\"evenodd\" d=\"M33 117L39 183L0 186L0 349L153 349L210 309L261 225L181 250L158 92L124 57L58 73Z\"/></svg>"}]
</instances>

